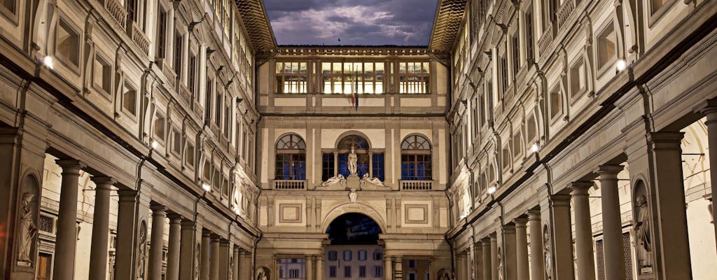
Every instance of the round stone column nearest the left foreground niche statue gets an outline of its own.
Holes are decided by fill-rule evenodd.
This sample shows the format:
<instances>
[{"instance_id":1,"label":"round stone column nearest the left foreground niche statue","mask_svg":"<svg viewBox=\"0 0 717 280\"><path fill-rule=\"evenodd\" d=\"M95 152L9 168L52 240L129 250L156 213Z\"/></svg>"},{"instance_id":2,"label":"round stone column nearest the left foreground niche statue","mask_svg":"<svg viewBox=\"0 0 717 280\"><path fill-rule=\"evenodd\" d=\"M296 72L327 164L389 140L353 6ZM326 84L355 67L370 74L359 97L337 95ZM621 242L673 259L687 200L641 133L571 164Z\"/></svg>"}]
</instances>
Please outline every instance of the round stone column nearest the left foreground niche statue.
<instances>
[{"instance_id":1,"label":"round stone column nearest the left foreground niche statue","mask_svg":"<svg viewBox=\"0 0 717 280\"><path fill-rule=\"evenodd\" d=\"M62 167L60 211L57 215L57 241L54 247L54 280L75 278L75 245L77 243L77 190L80 170L78 160L57 160Z\"/></svg>"}]
</instances>

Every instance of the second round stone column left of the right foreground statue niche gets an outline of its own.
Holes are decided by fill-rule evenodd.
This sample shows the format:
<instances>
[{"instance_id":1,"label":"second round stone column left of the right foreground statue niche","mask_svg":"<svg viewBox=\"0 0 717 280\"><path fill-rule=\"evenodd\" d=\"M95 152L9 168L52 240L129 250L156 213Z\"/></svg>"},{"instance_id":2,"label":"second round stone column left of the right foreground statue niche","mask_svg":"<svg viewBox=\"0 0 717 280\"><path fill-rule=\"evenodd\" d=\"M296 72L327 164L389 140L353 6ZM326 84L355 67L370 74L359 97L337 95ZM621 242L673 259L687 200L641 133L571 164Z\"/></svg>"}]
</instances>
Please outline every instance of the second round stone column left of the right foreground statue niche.
<instances>
[{"instance_id":1,"label":"second round stone column left of the right foreground statue niche","mask_svg":"<svg viewBox=\"0 0 717 280\"><path fill-rule=\"evenodd\" d=\"M575 207L575 258L577 275L580 280L595 280L595 261L592 250L592 221L590 220L590 200L588 190L591 181L571 183L570 195ZM615 188L617 192L617 188ZM618 207L619 209L619 207Z\"/></svg>"}]
</instances>

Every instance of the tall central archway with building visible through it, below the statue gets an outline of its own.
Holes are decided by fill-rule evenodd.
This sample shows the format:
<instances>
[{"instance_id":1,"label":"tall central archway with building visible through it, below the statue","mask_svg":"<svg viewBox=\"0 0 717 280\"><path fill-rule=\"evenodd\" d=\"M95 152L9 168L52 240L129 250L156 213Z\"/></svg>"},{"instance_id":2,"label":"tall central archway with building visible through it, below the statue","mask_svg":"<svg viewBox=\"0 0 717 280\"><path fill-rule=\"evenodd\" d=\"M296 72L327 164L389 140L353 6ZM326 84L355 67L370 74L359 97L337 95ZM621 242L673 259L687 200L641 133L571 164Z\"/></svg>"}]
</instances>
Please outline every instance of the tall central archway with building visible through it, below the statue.
<instances>
[{"instance_id":1,"label":"tall central archway with building visible through it, below the statue","mask_svg":"<svg viewBox=\"0 0 717 280\"><path fill-rule=\"evenodd\" d=\"M361 213L345 213L331 221L326 233L327 279L383 279L384 248L379 246L381 227L376 221Z\"/></svg>"}]
</instances>

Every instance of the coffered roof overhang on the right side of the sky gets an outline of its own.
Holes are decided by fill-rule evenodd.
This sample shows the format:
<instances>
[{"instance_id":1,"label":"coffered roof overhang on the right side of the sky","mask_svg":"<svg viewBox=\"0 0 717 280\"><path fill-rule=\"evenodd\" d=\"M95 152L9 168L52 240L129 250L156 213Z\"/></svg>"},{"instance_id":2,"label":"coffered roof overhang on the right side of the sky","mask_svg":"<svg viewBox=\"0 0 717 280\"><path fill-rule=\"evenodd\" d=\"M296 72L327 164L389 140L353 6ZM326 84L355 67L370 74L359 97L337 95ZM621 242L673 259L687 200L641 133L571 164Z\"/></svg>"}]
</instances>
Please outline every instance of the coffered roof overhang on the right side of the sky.
<instances>
[{"instance_id":1,"label":"coffered roof overhang on the right side of the sky","mask_svg":"<svg viewBox=\"0 0 717 280\"><path fill-rule=\"evenodd\" d=\"M437 57L450 57L465 13L466 0L438 0L429 48Z\"/></svg>"}]
</instances>

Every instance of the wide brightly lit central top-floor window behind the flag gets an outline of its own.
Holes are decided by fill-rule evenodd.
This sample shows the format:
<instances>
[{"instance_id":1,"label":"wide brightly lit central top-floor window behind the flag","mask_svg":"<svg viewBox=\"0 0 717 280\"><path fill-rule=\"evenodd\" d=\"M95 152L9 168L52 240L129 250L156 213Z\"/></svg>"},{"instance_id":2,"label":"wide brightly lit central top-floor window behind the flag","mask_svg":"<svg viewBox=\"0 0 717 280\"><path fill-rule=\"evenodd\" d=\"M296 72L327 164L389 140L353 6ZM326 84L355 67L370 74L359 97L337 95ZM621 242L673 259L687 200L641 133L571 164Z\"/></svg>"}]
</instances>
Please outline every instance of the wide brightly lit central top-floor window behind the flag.
<instances>
[{"instance_id":1,"label":"wide brightly lit central top-floor window behind the flag","mask_svg":"<svg viewBox=\"0 0 717 280\"><path fill-rule=\"evenodd\" d=\"M322 62L323 93L384 93L383 62Z\"/></svg>"}]
</instances>

